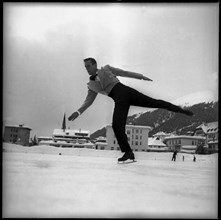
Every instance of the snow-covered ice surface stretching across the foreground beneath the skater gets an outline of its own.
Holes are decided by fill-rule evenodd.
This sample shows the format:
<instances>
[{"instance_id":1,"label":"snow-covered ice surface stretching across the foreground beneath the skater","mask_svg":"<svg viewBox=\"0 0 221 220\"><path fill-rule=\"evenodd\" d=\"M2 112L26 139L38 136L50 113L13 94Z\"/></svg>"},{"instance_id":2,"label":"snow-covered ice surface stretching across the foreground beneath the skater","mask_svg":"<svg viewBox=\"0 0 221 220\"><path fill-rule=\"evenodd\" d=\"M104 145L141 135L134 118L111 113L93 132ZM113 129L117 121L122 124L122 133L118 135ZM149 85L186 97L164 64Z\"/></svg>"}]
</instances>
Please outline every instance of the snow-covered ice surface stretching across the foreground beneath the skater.
<instances>
[{"instance_id":1,"label":"snow-covered ice surface stretching across the foreground beneath the skater","mask_svg":"<svg viewBox=\"0 0 221 220\"><path fill-rule=\"evenodd\" d=\"M217 218L218 154L120 156L4 143L3 217Z\"/></svg>"}]
</instances>

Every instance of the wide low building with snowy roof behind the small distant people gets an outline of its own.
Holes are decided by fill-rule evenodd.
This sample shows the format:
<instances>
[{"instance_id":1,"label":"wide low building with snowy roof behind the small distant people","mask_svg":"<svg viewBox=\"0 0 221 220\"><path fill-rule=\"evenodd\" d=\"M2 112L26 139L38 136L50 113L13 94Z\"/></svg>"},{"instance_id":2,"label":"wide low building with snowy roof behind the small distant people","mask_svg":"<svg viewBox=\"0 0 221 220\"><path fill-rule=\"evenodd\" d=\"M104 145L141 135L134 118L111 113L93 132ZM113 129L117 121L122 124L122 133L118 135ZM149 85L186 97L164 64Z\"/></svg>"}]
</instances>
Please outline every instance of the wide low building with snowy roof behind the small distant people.
<instances>
[{"instance_id":1,"label":"wide low building with snowy roof behind the small distant people","mask_svg":"<svg viewBox=\"0 0 221 220\"><path fill-rule=\"evenodd\" d=\"M198 146L205 144L205 137L201 136L188 136L188 135L180 135L180 136L170 136L165 138L166 145L169 148L169 151L180 151L183 146Z\"/></svg>"}]
</instances>

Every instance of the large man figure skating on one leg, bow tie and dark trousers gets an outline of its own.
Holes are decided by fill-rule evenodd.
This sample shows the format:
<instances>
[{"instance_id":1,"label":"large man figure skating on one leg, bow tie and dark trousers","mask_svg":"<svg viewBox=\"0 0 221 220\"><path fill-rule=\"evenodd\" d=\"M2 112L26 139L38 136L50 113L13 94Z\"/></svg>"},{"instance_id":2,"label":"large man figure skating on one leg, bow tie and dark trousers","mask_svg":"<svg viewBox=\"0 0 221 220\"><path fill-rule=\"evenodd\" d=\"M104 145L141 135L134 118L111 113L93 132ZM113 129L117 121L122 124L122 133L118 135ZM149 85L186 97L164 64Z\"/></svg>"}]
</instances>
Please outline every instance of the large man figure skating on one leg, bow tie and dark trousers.
<instances>
[{"instance_id":1,"label":"large man figure skating on one leg, bow tie and dark trousers","mask_svg":"<svg viewBox=\"0 0 221 220\"><path fill-rule=\"evenodd\" d=\"M94 102L98 93L111 97L115 102L112 127L120 149L124 153L124 155L119 158L118 161L135 159L134 153L132 152L128 143L127 135L125 134L127 114L131 105L147 108L163 108L189 116L193 115L193 113L189 110L182 109L179 106L163 100L153 99L135 89L125 86L117 78L117 76L122 76L152 81L140 73L125 71L110 65L106 65L101 67L101 69L98 69L97 62L94 58L84 59L84 66L90 75L90 80L87 83L88 94L83 105L73 114L71 114L68 120L73 121L79 115L81 115Z\"/></svg>"}]
</instances>

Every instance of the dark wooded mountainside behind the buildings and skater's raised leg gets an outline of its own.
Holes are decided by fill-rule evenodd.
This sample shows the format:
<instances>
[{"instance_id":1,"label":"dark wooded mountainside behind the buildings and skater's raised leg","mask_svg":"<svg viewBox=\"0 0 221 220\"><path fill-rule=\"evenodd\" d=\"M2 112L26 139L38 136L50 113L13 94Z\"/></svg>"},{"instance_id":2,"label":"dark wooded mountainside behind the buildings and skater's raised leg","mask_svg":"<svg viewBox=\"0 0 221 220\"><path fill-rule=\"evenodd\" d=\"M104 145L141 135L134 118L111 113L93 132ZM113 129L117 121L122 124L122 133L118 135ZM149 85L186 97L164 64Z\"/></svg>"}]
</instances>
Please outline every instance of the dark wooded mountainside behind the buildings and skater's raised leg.
<instances>
[{"instance_id":1,"label":"dark wooded mountainside behind the buildings and skater's raised leg","mask_svg":"<svg viewBox=\"0 0 221 220\"><path fill-rule=\"evenodd\" d=\"M164 109L157 109L151 112L144 112L128 116L127 124L151 126L149 136L163 131L166 133L176 133L186 135L193 133L197 126L202 123L218 121L218 101L202 102L184 107L194 113L193 117L180 113L170 112ZM99 136L106 136L105 127L91 135L91 139Z\"/></svg>"}]
</instances>

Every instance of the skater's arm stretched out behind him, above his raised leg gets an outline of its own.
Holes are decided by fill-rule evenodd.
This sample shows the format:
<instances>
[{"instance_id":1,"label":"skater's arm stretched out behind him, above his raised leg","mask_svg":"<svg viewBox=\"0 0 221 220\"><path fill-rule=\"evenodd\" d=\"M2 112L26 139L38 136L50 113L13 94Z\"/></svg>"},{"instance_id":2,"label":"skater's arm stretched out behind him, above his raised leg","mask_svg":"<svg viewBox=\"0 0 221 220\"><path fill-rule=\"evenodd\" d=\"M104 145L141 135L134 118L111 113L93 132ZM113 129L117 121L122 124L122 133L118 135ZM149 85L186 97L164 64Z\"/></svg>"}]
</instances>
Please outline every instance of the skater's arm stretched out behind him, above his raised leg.
<instances>
[{"instance_id":1,"label":"skater's arm stretched out behind him, above his raised leg","mask_svg":"<svg viewBox=\"0 0 221 220\"><path fill-rule=\"evenodd\" d=\"M135 78L135 79L143 79L147 81L153 81L152 79L144 76L143 74L140 73L135 73L135 72L130 72L130 71L125 71L116 67L112 67L110 65L106 65L105 68L109 69L112 71L116 76L122 76L122 77L129 77L129 78Z\"/></svg>"}]
</instances>

